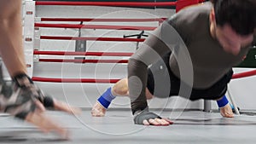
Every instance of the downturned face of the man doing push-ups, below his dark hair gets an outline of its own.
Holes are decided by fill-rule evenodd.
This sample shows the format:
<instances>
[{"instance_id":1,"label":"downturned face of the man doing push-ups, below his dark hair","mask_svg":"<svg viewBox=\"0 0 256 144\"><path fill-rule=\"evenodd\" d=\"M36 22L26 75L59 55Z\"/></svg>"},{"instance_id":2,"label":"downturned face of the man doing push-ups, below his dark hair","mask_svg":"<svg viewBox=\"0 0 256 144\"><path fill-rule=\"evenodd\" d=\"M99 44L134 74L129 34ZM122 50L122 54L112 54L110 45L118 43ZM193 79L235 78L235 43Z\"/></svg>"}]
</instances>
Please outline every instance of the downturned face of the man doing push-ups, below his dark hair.
<instances>
[{"instance_id":1,"label":"downturned face of the man doing push-ups, below his dark hair","mask_svg":"<svg viewBox=\"0 0 256 144\"><path fill-rule=\"evenodd\" d=\"M237 34L230 25L216 26L216 37L224 50L233 55L238 55L241 48L253 42L253 33L247 36Z\"/></svg>"}]
</instances>

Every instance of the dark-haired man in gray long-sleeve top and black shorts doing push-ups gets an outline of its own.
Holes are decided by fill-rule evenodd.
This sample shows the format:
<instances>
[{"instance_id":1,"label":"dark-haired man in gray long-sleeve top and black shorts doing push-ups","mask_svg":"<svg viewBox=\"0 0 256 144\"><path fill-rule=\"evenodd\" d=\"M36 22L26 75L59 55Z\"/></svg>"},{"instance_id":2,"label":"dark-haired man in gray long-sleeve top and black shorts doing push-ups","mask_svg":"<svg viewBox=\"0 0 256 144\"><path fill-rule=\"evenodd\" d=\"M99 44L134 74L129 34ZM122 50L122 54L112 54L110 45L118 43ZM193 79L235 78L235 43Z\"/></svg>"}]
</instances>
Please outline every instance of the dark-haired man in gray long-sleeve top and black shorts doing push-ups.
<instances>
[{"instance_id":1,"label":"dark-haired man in gray long-sleeve top and black shorts doing push-ups","mask_svg":"<svg viewBox=\"0 0 256 144\"><path fill-rule=\"evenodd\" d=\"M130 96L135 124L169 123L148 112L147 90L156 97L180 95L192 101L224 96L232 66L255 43L255 4L216 0L213 5L204 3L174 14L131 56L129 92L124 92L128 90L124 83L117 83L111 92Z\"/></svg>"}]
</instances>

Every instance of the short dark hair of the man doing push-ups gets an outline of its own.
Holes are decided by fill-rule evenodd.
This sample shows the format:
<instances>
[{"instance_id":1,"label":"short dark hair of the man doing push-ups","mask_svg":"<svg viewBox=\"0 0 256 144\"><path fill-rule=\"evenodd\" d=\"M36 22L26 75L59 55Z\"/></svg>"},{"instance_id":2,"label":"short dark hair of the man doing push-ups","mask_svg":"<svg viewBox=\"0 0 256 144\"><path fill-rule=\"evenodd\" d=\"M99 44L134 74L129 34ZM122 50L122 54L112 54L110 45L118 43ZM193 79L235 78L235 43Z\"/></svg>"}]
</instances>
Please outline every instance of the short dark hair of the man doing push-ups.
<instances>
[{"instance_id":1,"label":"short dark hair of the man doing push-ups","mask_svg":"<svg viewBox=\"0 0 256 144\"><path fill-rule=\"evenodd\" d=\"M216 24L229 24L238 34L249 35L256 27L254 0L211 0Z\"/></svg>"}]
</instances>

